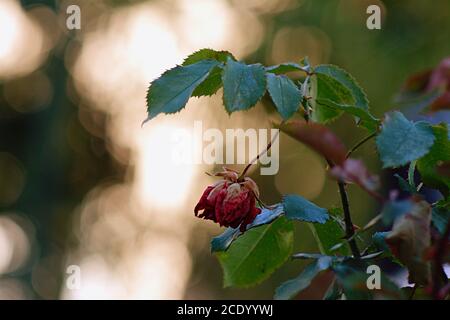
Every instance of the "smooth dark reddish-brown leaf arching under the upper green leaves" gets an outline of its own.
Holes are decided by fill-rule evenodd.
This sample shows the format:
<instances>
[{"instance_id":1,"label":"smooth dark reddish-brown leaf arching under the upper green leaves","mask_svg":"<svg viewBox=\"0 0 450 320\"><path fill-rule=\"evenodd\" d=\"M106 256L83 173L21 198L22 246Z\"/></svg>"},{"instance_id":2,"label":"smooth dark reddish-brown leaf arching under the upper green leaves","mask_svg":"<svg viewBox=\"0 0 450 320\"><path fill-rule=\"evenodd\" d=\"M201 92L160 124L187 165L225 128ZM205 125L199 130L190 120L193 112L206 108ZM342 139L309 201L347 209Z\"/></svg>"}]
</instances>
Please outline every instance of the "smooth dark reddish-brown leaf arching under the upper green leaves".
<instances>
[{"instance_id":1,"label":"smooth dark reddish-brown leaf arching under the upper green leaves","mask_svg":"<svg viewBox=\"0 0 450 320\"><path fill-rule=\"evenodd\" d=\"M347 150L344 144L330 129L321 124L292 121L281 124L278 128L336 165L345 161Z\"/></svg>"}]
</instances>

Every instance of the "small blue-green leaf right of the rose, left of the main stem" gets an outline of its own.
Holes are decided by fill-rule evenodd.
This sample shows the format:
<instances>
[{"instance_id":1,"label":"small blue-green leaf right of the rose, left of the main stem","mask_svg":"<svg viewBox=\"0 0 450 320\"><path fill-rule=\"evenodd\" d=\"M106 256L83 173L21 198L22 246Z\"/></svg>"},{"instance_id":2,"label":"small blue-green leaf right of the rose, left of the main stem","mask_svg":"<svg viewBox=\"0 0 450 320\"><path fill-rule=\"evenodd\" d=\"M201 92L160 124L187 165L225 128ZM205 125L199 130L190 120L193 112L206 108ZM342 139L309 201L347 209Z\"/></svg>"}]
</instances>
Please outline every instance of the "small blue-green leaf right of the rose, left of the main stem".
<instances>
[{"instance_id":1,"label":"small blue-green leaf right of the rose, left of the main stem","mask_svg":"<svg viewBox=\"0 0 450 320\"><path fill-rule=\"evenodd\" d=\"M325 223L329 218L327 209L320 208L305 198L294 194L283 197L283 206L288 219Z\"/></svg>"}]
</instances>

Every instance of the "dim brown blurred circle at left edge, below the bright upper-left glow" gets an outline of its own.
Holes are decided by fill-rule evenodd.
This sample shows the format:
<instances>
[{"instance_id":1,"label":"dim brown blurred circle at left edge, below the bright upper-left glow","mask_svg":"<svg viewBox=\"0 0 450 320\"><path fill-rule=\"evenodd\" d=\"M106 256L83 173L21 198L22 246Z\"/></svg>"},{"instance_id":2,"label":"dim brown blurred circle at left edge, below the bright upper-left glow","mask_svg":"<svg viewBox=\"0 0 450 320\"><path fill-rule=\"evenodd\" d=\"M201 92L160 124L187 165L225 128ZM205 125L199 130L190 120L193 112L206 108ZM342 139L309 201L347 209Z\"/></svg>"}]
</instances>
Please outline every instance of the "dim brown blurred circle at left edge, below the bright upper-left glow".
<instances>
[{"instance_id":1,"label":"dim brown blurred circle at left edge, below the bright upper-left glow","mask_svg":"<svg viewBox=\"0 0 450 320\"><path fill-rule=\"evenodd\" d=\"M42 110L50 104L53 96L50 80L40 71L7 81L3 90L6 102L21 113Z\"/></svg>"}]
</instances>

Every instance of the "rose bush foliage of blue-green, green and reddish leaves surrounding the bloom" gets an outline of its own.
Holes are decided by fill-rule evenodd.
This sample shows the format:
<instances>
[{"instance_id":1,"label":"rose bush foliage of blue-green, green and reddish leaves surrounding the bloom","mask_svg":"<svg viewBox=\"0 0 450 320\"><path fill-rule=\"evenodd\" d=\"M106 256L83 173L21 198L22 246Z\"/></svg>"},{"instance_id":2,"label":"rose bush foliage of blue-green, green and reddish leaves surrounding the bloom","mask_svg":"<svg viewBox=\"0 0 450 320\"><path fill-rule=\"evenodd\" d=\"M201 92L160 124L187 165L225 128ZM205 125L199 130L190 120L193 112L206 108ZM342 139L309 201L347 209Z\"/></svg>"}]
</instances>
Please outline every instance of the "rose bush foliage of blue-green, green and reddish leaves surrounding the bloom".
<instances>
[{"instance_id":1,"label":"rose bush foliage of blue-green, green and reddish leaves surrounding the bloom","mask_svg":"<svg viewBox=\"0 0 450 320\"><path fill-rule=\"evenodd\" d=\"M303 72L302 81L285 75L292 71ZM400 290L385 273L381 289L368 289L367 267L385 258L406 267L417 290L435 298L446 296L442 293L445 284L434 280L439 278L434 273L441 272L443 261L448 259L445 250L441 252L448 244L450 217L450 135L445 124L413 122L399 111L387 113L382 120L376 118L356 80L334 65L313 67L308 59L268 67L247 65L229 52L211 49L193 53L181 66L151 83L148 119L178 112L189 97L211 95L222 86L225 110L230 114L252 108L267 91L281 118L275 127L326 160L342 201L342 210L327 209L299 195L284 195L280 203L262 206L245 230L226 229L211 241L211 251L224 270L225 286L255 285L292 256L312 261L296 278L281 284L275 293L277 299L296 297L322 272L333 274L325 299L403 299L408 290ZM352 116L355 125L370 134L351 149L326 126L343 114ZM298 116L303 119L292 120ZM398 199L396 192L391 192L387 199L378 193L378 177L369 173L361 160L351 157L373 137L384 168L409 165L407 180L396 175L402 191L409 194L407 198ZM420 185L414 181L416 168ZM244 181L236 179L237 183ZM355 228L351 220L346 193L351 183L380 202L379 215L363 228ZM440 190L442 199L434 204L424 200L420 194L423 184ZM294 223L309 225L320 253L292 254ZM365 250L360 251L360 235L375 226L388 231L374 232L369 243L364 243ZM433 270L438 271L432 270L433 261Z\"/></svg>"}]
</instances>

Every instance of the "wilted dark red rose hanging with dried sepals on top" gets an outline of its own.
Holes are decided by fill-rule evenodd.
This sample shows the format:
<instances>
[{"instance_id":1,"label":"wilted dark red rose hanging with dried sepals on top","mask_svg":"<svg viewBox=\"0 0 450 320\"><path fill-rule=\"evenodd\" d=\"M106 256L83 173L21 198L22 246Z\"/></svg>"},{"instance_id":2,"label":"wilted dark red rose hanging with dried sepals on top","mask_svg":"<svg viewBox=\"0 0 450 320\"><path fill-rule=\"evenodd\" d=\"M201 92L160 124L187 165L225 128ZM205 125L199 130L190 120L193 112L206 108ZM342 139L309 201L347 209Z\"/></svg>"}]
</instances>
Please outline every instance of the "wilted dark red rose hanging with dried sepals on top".
<instances>
[{"instance_id":1,"label":"wilted dark red rose hanging with dried sepals on top","mask_svg":"<svg viewBox=\"0 0 450 320\"><path fill-rule=\"evenodd\" d=\"M239 181L238 173L229 169L216 175L222 176L223 180L206 188L195 206L195 215L220 226L239 227L244 232L261 213L261 209L256 207L258 187L247 177Z\"/></svg>"}]
</instances>

